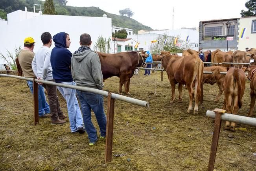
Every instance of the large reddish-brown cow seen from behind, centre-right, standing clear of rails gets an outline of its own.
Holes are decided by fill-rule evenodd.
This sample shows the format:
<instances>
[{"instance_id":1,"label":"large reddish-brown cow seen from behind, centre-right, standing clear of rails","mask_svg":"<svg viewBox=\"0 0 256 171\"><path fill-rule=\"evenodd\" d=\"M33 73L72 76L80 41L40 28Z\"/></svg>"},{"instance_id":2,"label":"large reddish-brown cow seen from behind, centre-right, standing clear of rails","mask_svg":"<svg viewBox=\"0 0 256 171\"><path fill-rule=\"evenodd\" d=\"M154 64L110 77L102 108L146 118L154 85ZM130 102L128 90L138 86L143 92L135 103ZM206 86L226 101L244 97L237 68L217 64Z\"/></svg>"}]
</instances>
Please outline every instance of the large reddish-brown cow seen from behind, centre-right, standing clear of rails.
<instances>
[{"instance_id":1,"label":"large reddish-brown cow seen from behind, centre-right, standing clear of rails","mask_svg":"<svg viewBox=\"0 0 256 171\"><path fill-rule=\"evenodd\" d=\"M194 113L198 113L198 101L201 98L201 84L203 81L203 61L197 55L180 57L162 52L162 65L164 66L168 79L171 83L171 101L175 99L175 85L179 83L179 102L182 102L182 85L186 85L190 96L188 113L192 110L194 98L193 83L195 84L195 108Z\"/></svg>"}]
</instances>

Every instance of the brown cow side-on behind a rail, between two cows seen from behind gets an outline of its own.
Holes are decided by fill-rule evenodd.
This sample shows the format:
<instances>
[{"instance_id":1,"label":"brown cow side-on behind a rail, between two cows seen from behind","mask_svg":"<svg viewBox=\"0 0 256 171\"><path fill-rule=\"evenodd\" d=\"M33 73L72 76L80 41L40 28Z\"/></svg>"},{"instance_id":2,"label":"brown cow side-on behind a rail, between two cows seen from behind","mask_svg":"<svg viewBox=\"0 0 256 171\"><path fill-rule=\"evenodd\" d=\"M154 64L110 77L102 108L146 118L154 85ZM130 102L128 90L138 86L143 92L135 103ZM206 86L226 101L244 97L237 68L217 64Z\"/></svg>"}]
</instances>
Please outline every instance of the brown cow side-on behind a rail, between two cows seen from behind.
<instances>
[{"instance_id":1,"label":"brown cow side-on behind a rail, between two cows seen from behind","mask_svg":"<svg viewBox=\"0 0 256 171\"><path fill-rule=\"evenodd\" d=\"M219 94L214 100L215 102L217 102L219 101L219 98L221 97L221 94L224 91L223 83L224 83L225 75L220 74L220 72L227 72L227 68L224 66L208 66L208 67L204 67L204 71L210 71L212 72L212 74L204 74L203 83L210 84L210 85L214 85L215 83L217 83L219 87Z\"/></svg>"}]
</instances>

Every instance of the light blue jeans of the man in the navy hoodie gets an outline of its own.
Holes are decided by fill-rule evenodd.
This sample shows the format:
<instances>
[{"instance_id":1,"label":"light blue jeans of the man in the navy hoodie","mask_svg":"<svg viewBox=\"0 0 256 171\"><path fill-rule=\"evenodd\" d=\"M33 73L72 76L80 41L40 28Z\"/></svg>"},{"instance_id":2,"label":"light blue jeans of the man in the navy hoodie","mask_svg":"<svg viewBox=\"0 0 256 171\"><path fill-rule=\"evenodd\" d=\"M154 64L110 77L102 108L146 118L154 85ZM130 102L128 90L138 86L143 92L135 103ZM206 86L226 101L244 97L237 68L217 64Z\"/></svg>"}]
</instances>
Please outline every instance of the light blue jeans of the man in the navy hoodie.
<instances>
[{"instance_id":1,"label":"light blue jeans of the man in the navy hoodie","mask_svg":"<svg viewBox=\"0 0 256 171\"><path fill-rule=\"evenodd\" d=\"M76 85L74 81L63 82L62 84ZM71 132L76 132L78 127L83 127L83 118L76 98L76 90L59 86L57 86L57 88L67 102L68 118L70 122Z\"/></svg>"}]
</instances>

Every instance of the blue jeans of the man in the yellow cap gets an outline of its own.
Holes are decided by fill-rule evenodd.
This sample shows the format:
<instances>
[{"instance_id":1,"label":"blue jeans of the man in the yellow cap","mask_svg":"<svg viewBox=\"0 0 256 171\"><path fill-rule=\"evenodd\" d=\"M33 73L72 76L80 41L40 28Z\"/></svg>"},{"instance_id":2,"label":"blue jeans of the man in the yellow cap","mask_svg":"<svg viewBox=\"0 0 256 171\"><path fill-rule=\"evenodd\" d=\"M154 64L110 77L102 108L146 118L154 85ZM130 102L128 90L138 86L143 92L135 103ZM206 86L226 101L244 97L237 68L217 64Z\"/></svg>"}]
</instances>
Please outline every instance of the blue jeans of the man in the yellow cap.
<instances>
[{"instance_id":1,"label":"blue jeans of the man in the yellow cap","mask_svg":"<svg viewBox=\"0 0 256 171\"><path fill-rule=\"evenodd\" d=\"M27 83L31 93L33 94L33 81L27 81ZM38 112L39 116L44 116L44 114L50 113L50 107L46 101L44 87L42 85L38 85Z\"/></svg>"}]
</instances>

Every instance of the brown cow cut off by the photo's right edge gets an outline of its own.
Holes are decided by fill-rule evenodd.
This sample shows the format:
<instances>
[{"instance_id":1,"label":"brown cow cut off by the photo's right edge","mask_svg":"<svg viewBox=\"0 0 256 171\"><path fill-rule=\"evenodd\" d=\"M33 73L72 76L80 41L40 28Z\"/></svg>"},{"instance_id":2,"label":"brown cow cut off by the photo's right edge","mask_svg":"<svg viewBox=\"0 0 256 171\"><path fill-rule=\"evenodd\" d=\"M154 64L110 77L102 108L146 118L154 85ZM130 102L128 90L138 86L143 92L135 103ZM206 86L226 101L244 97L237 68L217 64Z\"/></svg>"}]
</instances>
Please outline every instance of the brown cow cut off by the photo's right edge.
<instances>
[{"instance_id":1,"label":"brown cow cut off by the photo's right edge","mask_svg":"<svg viewBox=\"0 0 256 171\"><path fill-rule=\"evenodd\" d=\"M248 68L247 78L250 80L250 111L248 116L252 116L256 98L256 65L251 65Z\"/></svg>"}]
</instances>

